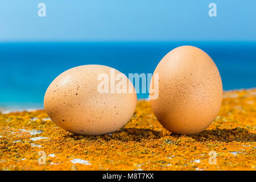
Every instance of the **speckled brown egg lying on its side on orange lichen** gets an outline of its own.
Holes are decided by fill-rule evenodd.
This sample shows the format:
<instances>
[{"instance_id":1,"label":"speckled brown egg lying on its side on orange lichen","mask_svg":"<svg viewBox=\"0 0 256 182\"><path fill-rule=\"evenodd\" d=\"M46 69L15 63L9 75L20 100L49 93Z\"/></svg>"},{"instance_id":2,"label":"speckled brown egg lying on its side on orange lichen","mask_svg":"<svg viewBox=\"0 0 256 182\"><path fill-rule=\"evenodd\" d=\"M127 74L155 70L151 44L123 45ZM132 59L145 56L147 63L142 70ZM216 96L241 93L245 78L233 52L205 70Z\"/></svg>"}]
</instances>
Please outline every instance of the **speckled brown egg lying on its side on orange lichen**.
<instances>
[{"instance_id":1,"label":"speckled brown egg lying on its side on orange lichen","mask_svg":"<svg viewBox=\"0 0 256 182\"><path fill-rule=\"evenodd\" d=\"M127 86L123 92L121 83ZM120 129L133 116L136 104L137 94L130 80L103 65L83 65L61 73L44 96L49 118L64 130L81 135Z\"/></svg>"}]
</instances>

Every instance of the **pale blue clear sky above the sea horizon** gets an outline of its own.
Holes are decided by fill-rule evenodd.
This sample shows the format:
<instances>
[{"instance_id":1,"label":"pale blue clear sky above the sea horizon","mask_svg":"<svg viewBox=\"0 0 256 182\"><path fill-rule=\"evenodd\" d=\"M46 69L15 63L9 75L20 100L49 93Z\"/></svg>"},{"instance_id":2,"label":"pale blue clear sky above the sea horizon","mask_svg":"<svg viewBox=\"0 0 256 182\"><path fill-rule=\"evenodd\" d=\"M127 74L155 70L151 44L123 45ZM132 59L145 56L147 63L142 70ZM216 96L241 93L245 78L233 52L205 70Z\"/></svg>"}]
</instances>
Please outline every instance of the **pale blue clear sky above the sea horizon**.
<instances>
[{"instance_id":1,"label":"pale blue clear sky above the sea horizon","mask_svg":"<svg viewBox=\"0 0 256 182\"><path fill-rule=\"evenodd\" d=\"M46 4L46 17L38 4ZM217 17L209 17L209 3ZM256 41L256 1L3 0L0 42Z\"/></svg>"}]
</instances>

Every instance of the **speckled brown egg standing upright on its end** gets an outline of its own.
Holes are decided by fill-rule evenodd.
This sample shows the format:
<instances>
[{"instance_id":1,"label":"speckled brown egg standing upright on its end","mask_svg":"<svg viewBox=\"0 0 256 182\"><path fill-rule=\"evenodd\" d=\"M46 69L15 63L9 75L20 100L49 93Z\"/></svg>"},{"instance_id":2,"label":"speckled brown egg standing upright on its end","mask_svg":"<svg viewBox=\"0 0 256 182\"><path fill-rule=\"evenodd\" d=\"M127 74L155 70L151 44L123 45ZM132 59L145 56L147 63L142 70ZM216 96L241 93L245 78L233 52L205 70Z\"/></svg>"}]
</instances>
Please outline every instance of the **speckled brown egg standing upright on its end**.
<instances>
[{"instance_id":1,"label":"speckled brown egg standing upright on its end","mask_svg":"<svg viewBox=\"0 0 256 182\"><path fill-rule=\"evenodd\" d=\"M156 118L167 130L175 134L197 134L217 117L222 82L207 53L193 46L177 47L163 57L152 80L156 73L158 98L151 99L150 95L150 102Z\"/></svg>"}]
</instances>

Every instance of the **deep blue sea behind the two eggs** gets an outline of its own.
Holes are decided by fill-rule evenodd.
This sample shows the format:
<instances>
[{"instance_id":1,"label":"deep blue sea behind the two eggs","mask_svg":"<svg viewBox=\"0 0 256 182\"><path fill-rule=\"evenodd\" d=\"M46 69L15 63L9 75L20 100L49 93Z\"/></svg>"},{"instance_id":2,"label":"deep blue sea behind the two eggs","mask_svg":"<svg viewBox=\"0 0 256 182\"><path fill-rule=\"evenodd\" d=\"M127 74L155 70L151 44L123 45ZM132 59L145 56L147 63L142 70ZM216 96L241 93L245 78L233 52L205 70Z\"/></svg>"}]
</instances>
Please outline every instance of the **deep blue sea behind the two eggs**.
<instances>
[{"instance_id":1,"label":"deep blue sea behind the two eggs","mask_svg":"<svg viewBox=\"0 0 256 182\"><path fill-rule=\"evenodd\" d=\"M108 65L126 75L153 73L166 53L184 45L199 47L212 57L224 90L256 87L256 42L1 43L0 108L43 107L51 81L79 65Z\"/></svg>"}]
</instances>

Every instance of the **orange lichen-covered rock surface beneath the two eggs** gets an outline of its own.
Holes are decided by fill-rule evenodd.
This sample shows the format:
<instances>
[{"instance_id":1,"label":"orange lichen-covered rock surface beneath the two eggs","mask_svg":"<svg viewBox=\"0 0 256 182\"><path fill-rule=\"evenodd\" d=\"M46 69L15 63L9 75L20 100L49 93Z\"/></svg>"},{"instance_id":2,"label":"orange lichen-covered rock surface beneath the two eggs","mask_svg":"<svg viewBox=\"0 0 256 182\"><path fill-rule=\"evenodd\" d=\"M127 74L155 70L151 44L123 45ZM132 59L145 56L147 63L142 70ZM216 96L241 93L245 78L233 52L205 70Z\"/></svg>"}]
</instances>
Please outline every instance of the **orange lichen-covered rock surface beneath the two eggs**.
<instances>
[{"instance_id":1,"label":"orange lichen-covered rock surface beneath the two eggs","mask_svg":"<svg viewBox=\"0 0 256 182\"><path fill-rule=\"evenodd\" d=\"M256 89L225 92L212 125L190 136L164 129L148 101L95 137L64 131L44 110L0 114L0 170L255 170L255 124Z\"/></svg>"}]
</instances>

